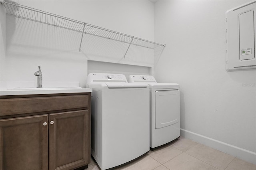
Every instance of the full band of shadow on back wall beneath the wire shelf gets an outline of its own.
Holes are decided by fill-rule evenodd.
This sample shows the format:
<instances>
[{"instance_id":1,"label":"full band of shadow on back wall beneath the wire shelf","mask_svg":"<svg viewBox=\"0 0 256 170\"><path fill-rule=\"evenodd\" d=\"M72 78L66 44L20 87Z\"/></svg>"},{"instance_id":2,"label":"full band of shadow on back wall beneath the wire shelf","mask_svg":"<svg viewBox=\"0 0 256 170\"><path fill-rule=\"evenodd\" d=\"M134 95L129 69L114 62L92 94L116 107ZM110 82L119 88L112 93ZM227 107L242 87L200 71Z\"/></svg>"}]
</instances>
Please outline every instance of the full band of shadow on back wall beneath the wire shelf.
<instances>
[{"instance_id":1,"label":"full band of shadow on back wall beneath the wire shelf","mask_svg":"<svg viewBox=\"0 0 256 170\"><path fill-rule=\"evenodd\" d=\"M9 14L6 15L6 28L7 55L11 53L26 57L56 57L62 53L67 55L78 53L90 60L115 63L124 60L124 62L154 64L154 49L139 45L129 47L128 42L118 42L90 34L84 34L81 42L81 32L17 18ZM82 43L81 53L78 52L80 43Z\"/></svg>"}]
</instances>

